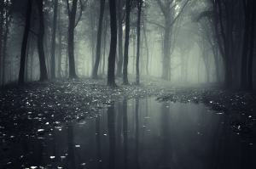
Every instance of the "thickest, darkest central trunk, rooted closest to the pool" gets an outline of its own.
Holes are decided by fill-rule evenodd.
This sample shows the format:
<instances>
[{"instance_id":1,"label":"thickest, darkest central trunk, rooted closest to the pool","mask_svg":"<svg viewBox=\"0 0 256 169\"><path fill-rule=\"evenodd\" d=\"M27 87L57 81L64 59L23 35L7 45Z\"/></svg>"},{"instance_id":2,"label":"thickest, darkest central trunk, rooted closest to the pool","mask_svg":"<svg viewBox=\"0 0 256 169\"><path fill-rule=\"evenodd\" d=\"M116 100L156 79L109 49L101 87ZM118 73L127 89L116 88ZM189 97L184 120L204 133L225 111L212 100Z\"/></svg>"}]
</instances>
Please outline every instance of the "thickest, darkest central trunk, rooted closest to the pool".
<instances>
[{"instance_id":1,"label":"thickest, darkest central trunk, rooted closest to the pool","mask_svg":"<svg viewBox=\"0 0 256 169\"><path fill-rule=\"evenodd\" d=\"M116 43L117 43L115 0L109 0L109 13L110 13L111 40L110 40L110 51L108 56L108 86L116 87L117 85L114 81L114 63L115 63Z\"/></svg>"}]
</instances>

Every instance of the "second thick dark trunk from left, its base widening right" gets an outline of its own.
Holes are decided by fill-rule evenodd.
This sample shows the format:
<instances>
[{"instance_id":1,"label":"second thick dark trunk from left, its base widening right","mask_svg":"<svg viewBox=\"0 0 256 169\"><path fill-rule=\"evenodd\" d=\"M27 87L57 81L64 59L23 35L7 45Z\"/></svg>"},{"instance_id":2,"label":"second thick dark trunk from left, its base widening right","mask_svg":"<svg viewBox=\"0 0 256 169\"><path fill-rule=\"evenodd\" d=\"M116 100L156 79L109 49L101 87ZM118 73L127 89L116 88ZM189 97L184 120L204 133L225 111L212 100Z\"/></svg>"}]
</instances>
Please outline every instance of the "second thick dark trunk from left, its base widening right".
<instances>
[{"instance_id":1,"label":"second thick dark trunk from left, its base widening right","mask_svg":"<svg viewBox=\"0 0 256 169\"><path fill-rule=\"evenodd\" d=\"M48 80L47 70L44 57L44 12L43 0L37 0L38 15L39 15L39 31L38 31L38 55L40 63L40 78L39 81Z\"/></svg>"}]
</instances>

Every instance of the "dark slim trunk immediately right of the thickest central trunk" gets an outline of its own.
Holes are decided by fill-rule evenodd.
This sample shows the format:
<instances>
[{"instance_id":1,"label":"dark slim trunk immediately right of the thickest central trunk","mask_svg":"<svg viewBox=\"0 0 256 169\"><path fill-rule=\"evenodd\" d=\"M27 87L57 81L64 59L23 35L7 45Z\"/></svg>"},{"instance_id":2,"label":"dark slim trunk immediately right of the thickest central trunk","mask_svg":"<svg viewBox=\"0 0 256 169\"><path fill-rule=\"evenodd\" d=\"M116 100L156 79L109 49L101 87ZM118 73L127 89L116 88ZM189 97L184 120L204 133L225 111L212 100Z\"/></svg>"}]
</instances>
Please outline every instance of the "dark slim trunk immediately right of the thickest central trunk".
<instances>
[{"instance_id":1,"label":"dark slim trunk immediately right of the thickest central trunk","mask_svg":"<svg viewBox=\"0 0 256 169\"><path fill-rule=\"evenodd\" d=\"M129 52L129 33L130 33L130 11L131 4L130 0L126 0L126 20L125 20L125 57L124 57L124 67L123 67L123 83L129 85L128 81L128 52Z\"/></svg>"}]
</instances>

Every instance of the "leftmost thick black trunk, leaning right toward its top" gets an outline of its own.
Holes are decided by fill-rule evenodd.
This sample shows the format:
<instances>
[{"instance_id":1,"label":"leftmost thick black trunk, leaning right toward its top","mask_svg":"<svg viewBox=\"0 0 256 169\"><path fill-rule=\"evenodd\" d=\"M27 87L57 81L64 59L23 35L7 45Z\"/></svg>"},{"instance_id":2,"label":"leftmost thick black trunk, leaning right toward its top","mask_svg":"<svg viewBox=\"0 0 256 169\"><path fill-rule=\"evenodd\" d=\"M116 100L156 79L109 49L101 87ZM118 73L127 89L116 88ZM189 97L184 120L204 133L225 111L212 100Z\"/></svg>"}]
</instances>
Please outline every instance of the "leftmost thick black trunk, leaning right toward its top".
<instances>
[{"instance_id":1,"label":"leftmost thick black trunk, leaning right toward its top","mask_svg":"<svg viewBox=\"0 0 256 169\"><path fill-rule=\"evenodd\" d=\"M30 29L31 13L32 13L32 0L28 0L26 5L26 25L25 25L25 30L23 34L22 44L21 44L20 73L19 73L19 81L18 81L19 84L24 83L26 44L27 44L27 39L28 39L29 29Z\"/></svg>"}]
</instances>

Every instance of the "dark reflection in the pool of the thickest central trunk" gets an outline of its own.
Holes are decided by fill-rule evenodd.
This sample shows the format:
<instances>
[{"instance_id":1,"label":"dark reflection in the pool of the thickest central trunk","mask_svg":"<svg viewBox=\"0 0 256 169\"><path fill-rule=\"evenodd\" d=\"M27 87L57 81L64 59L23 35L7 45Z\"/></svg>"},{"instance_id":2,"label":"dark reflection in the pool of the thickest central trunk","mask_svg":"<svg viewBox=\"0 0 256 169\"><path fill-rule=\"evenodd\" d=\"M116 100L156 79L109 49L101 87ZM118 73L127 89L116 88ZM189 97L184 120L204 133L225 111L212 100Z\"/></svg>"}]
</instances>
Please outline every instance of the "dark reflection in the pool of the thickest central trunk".
<instances>
[{"instance_id":1,"label":"dark reflection in the pool of the thickest central trunk","mask_svg":"<svg viewBox=\"0 0 256 169\"><path fill-rule=\"evenodd\" d=\"M108 168L114 168L115 162L115 131L114 131L114 107L108 107L108 137L109 137L109 155L108 155Z\"/></svg>"}]
</instances>

